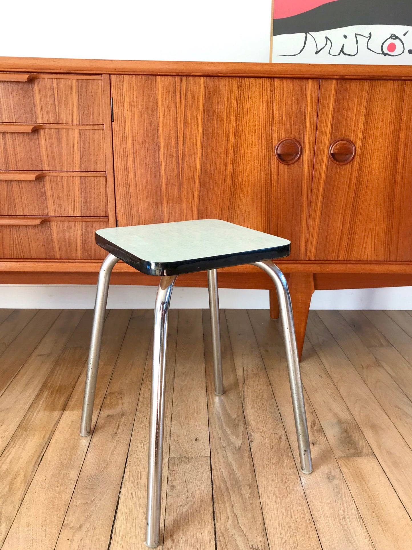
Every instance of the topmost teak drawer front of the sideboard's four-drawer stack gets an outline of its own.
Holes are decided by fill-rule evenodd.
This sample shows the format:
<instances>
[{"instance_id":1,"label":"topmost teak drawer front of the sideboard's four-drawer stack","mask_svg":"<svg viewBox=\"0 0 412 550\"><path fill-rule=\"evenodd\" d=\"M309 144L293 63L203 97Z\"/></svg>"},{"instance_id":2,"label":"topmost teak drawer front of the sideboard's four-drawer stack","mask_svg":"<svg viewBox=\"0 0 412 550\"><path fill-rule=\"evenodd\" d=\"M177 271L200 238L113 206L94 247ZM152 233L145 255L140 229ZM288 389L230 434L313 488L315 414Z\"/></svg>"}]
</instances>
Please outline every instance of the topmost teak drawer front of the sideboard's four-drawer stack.
<instances>
[{"instance_id":1,"label":"topmost teak drawer front of the sideboard's four-drawer stack","mask_svg":"<svg viewBox=\"0 0 412 550\"><path fill-rule=\"evenodd\" d=\"M0 122L103 124L101 76L0 73Z\"/></svg>"}]
</instances>

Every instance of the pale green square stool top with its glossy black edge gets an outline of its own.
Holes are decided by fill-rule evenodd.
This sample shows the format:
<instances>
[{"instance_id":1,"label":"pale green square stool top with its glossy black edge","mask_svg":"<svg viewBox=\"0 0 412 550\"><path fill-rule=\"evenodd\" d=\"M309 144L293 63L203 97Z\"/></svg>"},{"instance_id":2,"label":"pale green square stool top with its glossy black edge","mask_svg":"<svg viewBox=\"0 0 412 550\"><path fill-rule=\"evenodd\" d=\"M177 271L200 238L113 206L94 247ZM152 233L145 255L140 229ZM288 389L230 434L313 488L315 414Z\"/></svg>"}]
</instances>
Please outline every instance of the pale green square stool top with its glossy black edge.
<instances>
[{"instance_id":1,"label":"pale green square stool top with its glossy black edge","mask_svg":"<svg viewBox=\"0 0 412 550\"><path fill-rule=\"evenodd\" d=\"M290 254L290 241L221 219L112 227L96 243L148 275L179 275L275 260Z\"/></svg>"}]
</instances>

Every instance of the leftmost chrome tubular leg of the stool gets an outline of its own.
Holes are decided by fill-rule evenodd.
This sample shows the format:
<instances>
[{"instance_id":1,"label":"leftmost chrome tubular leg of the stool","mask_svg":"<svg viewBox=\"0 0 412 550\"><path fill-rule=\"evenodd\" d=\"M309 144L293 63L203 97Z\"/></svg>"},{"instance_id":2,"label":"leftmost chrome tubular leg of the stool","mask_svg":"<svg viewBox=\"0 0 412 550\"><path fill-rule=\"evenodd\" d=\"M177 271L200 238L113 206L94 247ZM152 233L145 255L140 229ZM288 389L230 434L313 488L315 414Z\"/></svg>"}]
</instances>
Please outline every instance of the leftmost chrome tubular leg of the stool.
<instances>
[{"instance_id":1,"label":"leftmost chrome tubular leg of the stool","mask_svg":"<svg viewBox=\"0 0 412 550\"><path fill-rule=\"evenodd\" d=\"M96 392L97 371L99 368L100 349L102 345L104 313L106 311L110 275L112 274L113 267L118 261L119 259L113 256L113 254L106 256L100 268L97 281L92 336L88 353L85 397L83 398L83 409L81 411L80 435L83 437L90 434L92 426L94 393Z\"/></svg>"}]
</instances>

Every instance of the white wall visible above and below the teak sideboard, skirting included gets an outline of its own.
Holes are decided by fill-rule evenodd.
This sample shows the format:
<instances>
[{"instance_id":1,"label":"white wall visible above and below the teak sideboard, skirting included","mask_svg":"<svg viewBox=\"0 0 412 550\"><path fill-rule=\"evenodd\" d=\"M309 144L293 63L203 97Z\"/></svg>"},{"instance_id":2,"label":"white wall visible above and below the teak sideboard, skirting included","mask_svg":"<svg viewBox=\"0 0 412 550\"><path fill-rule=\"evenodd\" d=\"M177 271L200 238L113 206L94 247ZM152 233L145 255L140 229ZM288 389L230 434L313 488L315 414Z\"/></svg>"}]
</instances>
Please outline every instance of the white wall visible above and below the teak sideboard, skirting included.
<instances>
[{"instance_id":1,"label":"white wall visible above and below the teak sideboard, skirting included","mask_svg":"<svg viewBox=\"0 0 412 550\"><path fill-rule=\"evenodd\" d=\"M20 0L1 3L0 56L269 61L271 0ZM16 28L18 23L18 33ZM317 309L412 309L411 288L315 292ZM109 307L151 307L153 288L113 287ZM222 307L268 307L266 290L222 289ZM0 285L0 307L92 307L91 287ZM205 289L175 307L207 307Z\"/></svg>"}]
</instances>

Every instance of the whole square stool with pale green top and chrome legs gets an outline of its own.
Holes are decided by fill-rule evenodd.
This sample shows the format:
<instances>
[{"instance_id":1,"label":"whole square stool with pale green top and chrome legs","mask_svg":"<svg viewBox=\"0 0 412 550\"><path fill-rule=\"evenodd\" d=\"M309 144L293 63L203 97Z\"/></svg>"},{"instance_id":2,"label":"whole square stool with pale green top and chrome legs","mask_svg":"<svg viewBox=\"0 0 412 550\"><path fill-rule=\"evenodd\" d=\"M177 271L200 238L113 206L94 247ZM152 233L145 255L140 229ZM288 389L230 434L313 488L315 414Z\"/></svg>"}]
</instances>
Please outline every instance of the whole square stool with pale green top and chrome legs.
<instances>
[{"instance_id":1,"label":"whole square stool with pale green top and chrome legs","mask_svg":"<svg viewBox=\"0 0 412 550\"><path fill-rule=\"evenodd\" d=\"M208 272L216 395L222 395L223 393L218 276L216 270L221 267L252 263L252 265L265 271L274 282L279 300L283 338L285 339L300 467L305 474L310 474L312 463L308 424L303 400L302 380L300 378L291 298L285 277L271 261L290 254L290 241L224 222L220 219L199 219L149 226L100 229L96 231L96 243L107 250L109 255L102 263L97 282L80 426L82 436L88 436L91 430L104 313L110 274L114 265L119 260L123 260L142 273L162 277L154 306L146 545L149 548L154 548L159 544L168 311L173 286L176 278L182 273Z\"/></svg>"}]
</instances>

